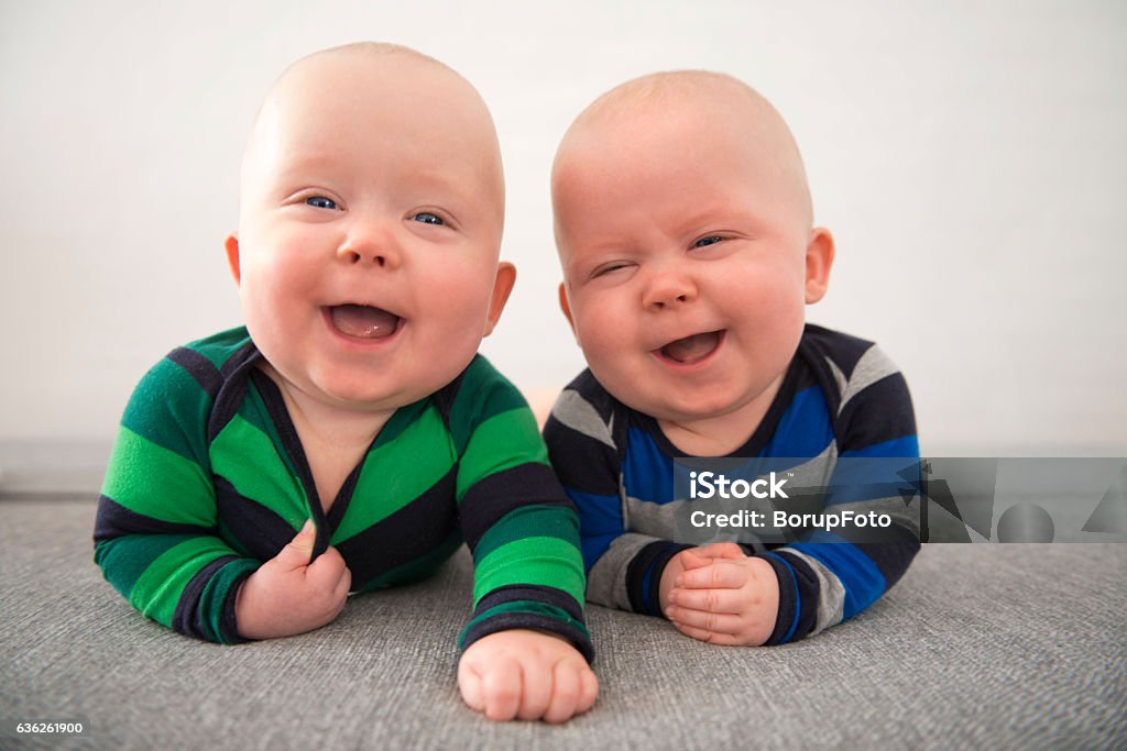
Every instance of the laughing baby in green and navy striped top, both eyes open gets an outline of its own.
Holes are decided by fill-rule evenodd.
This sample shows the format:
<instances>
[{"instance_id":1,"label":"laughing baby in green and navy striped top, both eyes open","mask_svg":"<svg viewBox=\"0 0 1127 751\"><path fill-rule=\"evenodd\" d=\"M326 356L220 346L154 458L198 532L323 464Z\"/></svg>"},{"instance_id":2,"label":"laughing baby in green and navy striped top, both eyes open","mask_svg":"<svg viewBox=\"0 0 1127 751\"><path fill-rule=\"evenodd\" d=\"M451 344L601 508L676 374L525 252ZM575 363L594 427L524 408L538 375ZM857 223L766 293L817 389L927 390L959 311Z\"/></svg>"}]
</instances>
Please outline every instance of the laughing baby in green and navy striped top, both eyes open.
<instances>
[{"instance_id":1,"label":"laughing baby in green and navy striped top, both eyes open","mask_svg":"<svg viewBox=\"0 0 1127 751\"><path fill-rule=\"evenodd\" d=\"M575 511L523 399L477 355L515 279L503 217L492 120L452 70L379 44L287 70L227 239L246 328L174 350L134 392L98 507L106 579L233 643L323 626L464 539L467 704L586 712Z\"/></svg>"}]
</instances>

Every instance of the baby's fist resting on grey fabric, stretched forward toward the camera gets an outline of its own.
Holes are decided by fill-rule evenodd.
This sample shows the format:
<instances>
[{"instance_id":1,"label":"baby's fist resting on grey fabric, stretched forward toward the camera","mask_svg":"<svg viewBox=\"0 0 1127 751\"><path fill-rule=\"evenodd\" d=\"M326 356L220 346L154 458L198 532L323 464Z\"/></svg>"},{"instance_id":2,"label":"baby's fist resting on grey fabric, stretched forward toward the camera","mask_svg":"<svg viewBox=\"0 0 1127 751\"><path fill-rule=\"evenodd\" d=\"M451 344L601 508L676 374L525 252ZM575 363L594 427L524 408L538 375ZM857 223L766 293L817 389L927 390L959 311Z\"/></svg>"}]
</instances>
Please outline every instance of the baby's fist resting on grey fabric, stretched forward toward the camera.
<instances>
[{"instance_id":1,"label":"baby's fist resting on grey fabric, stretched forward toward the camera","mask_svg":"<svg viewBox=\"0 0 1127 751\"><path fill-rule=\"evenodd\" d=\"M471 708L494 721L561 723L591 709L598 679L566 640L514 628L470 644L458 664L458 687Z\"/></svg>"}]
</instances>

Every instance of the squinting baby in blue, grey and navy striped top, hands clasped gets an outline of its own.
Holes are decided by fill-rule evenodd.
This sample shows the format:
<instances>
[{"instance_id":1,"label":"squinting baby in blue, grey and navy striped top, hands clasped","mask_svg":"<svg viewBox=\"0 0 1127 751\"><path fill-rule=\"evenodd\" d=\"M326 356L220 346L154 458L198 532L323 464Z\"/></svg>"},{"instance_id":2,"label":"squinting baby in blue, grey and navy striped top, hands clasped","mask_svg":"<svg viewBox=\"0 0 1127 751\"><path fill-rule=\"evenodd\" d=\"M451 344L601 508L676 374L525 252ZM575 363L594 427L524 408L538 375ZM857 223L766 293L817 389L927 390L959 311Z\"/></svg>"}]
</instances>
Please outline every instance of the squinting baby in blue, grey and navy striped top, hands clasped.
<instances>
[{"instance_id":1,"label":"squinting baby in blue, grey and navy striped top, hands clasped","mask_svg":"<svg viewBox=\"0 0 1127 751\"><path fill-rule=\"evenodd\" d=\"M579 509L587 599L744 645L868 607L920 547L899 494L825 501L887 513L879 543L825 530L784 546L676 542L693 501L674 495L674 457L793 457L798 474L825 477L837 457L919 456L897 368L870 342L804 323L834 243L813 226L779 114L722 74L630 81L564 136L552 200L559 302L589 370L544 437Z\"/></svg>"}]
</instances>

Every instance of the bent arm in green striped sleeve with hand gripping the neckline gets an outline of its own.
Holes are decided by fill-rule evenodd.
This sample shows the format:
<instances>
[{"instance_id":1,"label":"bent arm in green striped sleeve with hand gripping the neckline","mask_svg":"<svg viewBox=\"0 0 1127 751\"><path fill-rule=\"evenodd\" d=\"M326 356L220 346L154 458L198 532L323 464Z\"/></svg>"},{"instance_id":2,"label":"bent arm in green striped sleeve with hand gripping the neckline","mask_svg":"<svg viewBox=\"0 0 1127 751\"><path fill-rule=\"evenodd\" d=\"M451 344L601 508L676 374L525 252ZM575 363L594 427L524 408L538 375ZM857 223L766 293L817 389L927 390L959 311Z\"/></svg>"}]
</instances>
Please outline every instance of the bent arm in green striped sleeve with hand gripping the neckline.
<instances>
[{"instance_id":1,"label":"bent arm in green striped sleeve with hand gripping the neckline","mask_svg":"<svg viewBox=\"0 0 1127 751\"><path fill-rule=\"evenodd\" d=\"M95 561L133 607L188 636L233 643L323 625L349 584L335 549L309 565L307 530L261 564L219 537L211 396L193 356L170 355L130 400L98 502Z\"/></svg>"}]
</instances>

